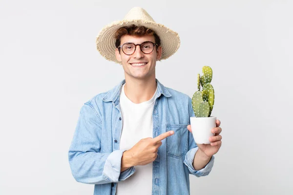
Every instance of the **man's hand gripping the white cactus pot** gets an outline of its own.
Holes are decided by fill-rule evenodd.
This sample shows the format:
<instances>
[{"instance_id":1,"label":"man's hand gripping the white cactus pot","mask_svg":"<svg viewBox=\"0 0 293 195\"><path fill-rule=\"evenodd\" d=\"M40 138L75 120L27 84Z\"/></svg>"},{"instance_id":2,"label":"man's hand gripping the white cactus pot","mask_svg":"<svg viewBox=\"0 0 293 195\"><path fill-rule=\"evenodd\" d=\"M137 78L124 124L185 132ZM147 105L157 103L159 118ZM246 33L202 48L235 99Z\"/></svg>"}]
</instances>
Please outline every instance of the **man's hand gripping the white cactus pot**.
<instances>
[{"instance_id":1,"label":"man's hand gripping the white cactus pot","mask_svg":"<svg viewBox=\"0 0 293 195\"><path fill-rule=\"evenodd\" d=\"M200 153L207 157L211 157L212 155L216 154L222 145L222 136L220 136L222 128L219 127L220 124L221 121L216 120L216 127L211 129L211 133L214 133L215 136L209 137L210 144L197 144ZM192 133L190 125L187 126L187 129Z\"/></svg>"}]
</instances>

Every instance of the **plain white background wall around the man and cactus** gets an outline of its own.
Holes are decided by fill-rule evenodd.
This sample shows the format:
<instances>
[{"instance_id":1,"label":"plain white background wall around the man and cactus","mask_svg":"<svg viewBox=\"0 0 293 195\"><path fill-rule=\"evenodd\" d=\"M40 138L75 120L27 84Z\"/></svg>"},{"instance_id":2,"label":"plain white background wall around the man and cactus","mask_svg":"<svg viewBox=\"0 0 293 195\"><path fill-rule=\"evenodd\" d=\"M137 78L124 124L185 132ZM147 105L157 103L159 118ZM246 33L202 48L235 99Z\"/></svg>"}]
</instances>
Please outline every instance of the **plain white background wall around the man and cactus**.
<instances>
[{"instance_id":1,"label":"plain white background wall around the man and cactus","mask_svg":"<svg viewBox=\"0 0 293 195\"><path fill-rule=\"evenodd\" d=\"M134 6L180 35L162 84L192 97L213 70L223 144L191 195L292 194L292 0L1 0L0 195L93 194L67 152L84 102L124 79L96 36Z\"/></svg>"}]
</instances>

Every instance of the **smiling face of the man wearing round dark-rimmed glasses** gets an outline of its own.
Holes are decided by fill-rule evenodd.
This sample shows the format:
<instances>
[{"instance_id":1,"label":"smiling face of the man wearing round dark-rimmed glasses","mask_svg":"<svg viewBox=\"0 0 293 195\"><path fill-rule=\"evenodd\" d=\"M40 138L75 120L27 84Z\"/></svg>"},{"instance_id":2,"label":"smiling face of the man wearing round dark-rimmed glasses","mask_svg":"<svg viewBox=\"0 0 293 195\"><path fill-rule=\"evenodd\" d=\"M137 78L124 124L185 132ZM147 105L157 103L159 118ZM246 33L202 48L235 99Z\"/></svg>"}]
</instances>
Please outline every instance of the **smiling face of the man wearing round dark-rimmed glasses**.
<instances>
[{"instance_id":1,"label":"smiling face of the man wearing round dark-rimmed glasses","mask_svg":"<svg viewBox=\"0 0 293 195\"><path fill-rule=\"evenodd\" d=\"M123 45L126 42L141 44L145 41L151 41L155 43L155 38L152 35L146 35L143 37L124 35L123 37L121 37L120 45ZM122 51L122 49L120 49L120 54L118 49L115 50L115 53L116 59L122 62L126 79L146 79L151 77L155 78L156 61L161 58L162 47L155 46L154 50L150 54L144 54L141 51L139 45L136 46L135 52L132 55L126 55Z\"/></svg>"}]
</instances>

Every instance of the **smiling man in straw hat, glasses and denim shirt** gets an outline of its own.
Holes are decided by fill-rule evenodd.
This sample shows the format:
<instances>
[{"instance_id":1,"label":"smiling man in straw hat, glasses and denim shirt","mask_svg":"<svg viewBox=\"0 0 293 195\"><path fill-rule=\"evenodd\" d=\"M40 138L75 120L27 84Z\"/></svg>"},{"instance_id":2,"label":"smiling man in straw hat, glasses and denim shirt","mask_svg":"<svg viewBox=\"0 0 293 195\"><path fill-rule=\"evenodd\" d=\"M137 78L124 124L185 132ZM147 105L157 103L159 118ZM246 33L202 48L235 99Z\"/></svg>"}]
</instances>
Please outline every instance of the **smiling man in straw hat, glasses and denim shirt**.
<instances>
[{"instance_id":1,"label":"smiling man in straw hat, glasses and denim shirt","mask_svg":"<svg viewBox=\"0 0 293 195\"><path fill-rule=\"evenodd\" d=\"M84 104L69 149L72 175L95 184L94 195L188 195L189 174L211 171L220 121L211 143L196 145L191 98L155 77L156 61L179 45L177 33L138 7L99 33L98 51L123 66L125 80Z\"/></svg>"}]
</instances>

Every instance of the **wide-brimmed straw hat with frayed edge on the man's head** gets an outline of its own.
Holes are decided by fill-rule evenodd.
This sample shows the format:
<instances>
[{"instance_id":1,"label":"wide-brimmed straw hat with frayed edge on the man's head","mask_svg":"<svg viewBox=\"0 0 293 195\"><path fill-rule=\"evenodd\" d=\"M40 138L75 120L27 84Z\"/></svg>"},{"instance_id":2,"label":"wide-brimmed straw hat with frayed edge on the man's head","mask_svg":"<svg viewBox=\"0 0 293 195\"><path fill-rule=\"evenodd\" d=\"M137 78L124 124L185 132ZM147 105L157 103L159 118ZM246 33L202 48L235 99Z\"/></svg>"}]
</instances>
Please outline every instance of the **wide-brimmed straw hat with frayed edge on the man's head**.
<instances>
[{"instance_id":1,"label":"wide-brimmed straw hat with frayed edge on the man's head","mask_svg":"<svg viewBox=\"0 0 293 195\"><path fill-rule=\"evenodd\" d=\"M120 27L132 24L150 28L160 37L162 46L161 59L169 58L178 50L180 46L178 33L163 24L156 23L143 8L134 7L126 14L124 20L114 21L106 25L98 34L96 39L97 50L105 59L121 64L115 56L116 40L114 35Z\"/></svg>"}]
</instances>

